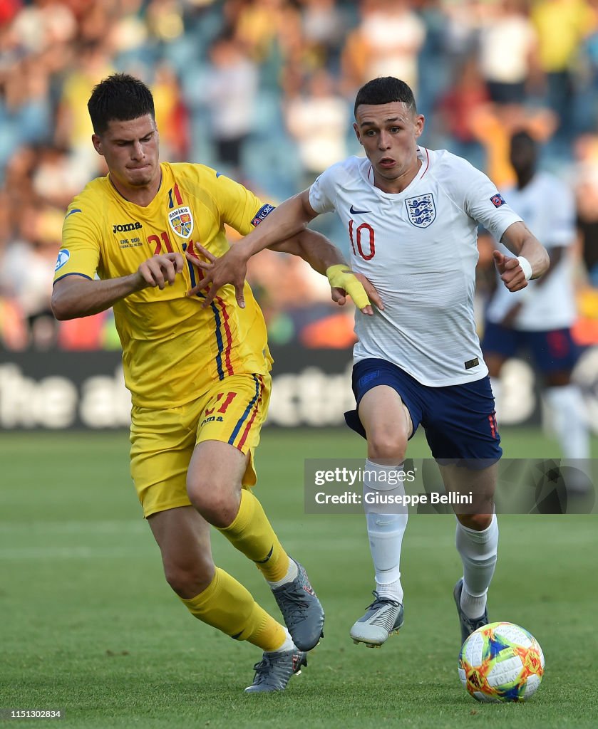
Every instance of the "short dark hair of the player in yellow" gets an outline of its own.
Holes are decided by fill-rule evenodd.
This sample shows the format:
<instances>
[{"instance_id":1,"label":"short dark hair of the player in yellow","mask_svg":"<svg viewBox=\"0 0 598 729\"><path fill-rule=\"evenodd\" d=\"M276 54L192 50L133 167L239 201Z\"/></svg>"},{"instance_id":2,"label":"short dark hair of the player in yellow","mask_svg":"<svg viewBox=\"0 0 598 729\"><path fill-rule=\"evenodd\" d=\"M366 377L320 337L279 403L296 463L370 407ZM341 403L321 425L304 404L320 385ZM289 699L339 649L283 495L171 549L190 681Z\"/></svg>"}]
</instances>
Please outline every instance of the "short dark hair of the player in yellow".
<instances>
[{"instance_id":1,"label":"short dark hair of the player in yellow","mask_svg":"<svg viewBox=\"0 0 598 729\"><path fill-rule=\"evenodd\" d=\"M128 122L145 114L156 118L151 91L129 74L112 74L94 86L87 108L96 134L103 134L112 120Z\"/></svg>"}]
</instances>

